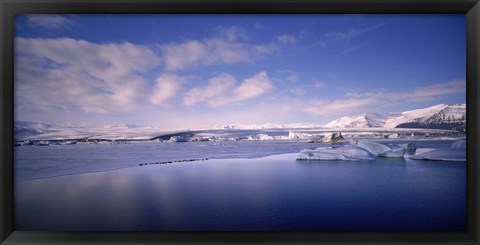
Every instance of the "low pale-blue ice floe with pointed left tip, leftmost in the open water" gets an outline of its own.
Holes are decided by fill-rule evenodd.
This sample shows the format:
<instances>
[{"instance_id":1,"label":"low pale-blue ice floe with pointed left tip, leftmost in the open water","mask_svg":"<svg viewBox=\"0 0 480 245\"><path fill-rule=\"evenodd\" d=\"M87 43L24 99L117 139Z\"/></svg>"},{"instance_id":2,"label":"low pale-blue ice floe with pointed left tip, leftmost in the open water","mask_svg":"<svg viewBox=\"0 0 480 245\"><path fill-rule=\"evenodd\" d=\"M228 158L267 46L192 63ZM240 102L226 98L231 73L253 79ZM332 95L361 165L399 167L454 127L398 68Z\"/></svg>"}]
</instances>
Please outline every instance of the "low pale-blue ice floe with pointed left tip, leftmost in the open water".
<instances>
[{"instance_id":1,"label":"low pale-blue ice floe with pointed left tip, leftmost in the open water","mask_svg":"<svg viewBox=\"0 0 480 245\"><path fill-rule=\"evenodd\" d=\"M302 150L297 160L374 160L376 156L367 150L354 146L345 145L342 147L321 147L314 150Z\"/></svg>"}]
</instances>

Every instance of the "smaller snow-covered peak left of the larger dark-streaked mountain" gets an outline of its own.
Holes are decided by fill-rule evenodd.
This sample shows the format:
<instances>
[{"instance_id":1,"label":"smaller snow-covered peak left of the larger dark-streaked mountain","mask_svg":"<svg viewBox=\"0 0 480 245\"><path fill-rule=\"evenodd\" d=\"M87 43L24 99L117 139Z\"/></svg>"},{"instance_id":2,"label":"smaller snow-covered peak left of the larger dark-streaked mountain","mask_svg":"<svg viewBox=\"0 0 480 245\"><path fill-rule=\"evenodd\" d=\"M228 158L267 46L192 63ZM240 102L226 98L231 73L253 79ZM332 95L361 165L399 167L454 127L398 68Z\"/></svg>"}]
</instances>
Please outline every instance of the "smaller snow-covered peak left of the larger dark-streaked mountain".
<instances>
[{"instance_id":1,"label":"smaller snow-covered peak left of the larger dark-streaked mountain","mask_svg":"<svg viewBox=\"0 0 480 245\"><path fill-rule=\"evenodd\" d=\"M382 128L387 118L383 115L367 112L355 117L340 117L324 127L327 128Z\"/></svg>"}]
</instances>

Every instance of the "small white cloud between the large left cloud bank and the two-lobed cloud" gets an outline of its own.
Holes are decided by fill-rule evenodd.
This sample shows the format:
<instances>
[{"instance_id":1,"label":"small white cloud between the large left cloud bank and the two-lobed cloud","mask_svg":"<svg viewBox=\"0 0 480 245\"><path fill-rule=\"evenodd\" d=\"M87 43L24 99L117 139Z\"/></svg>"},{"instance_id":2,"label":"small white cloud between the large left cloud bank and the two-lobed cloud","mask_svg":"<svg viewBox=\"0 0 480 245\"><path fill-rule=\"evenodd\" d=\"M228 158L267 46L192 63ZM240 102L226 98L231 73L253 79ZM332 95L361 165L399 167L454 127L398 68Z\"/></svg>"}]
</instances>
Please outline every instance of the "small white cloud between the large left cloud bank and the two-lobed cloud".
<instances>
[{"instance_id":1,"label":"small white cloud between the large left cloud bank and the two-lobed cloud","mask_svg":"<svg viewBox=\"0 0 480 245\"><path fill-rule=\"evenodd\" d=\"M186 81L186 77L174 74L161 74L156 80L150 102L154 105L167 105L168 101L180 92L182 85Z\"/></svg>"}]
</instances>

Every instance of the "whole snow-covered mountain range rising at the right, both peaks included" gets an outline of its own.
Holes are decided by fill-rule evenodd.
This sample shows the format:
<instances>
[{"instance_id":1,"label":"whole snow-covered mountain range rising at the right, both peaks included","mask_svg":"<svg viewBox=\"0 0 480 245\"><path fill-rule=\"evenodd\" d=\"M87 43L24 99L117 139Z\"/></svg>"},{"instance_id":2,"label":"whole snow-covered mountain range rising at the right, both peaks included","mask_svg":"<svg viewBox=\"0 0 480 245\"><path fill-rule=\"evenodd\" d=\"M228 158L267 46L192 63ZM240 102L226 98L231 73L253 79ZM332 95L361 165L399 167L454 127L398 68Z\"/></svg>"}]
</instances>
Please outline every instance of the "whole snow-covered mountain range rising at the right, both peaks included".
<instances>
[{"instance_id":1,"label":"whole snow-covered mountain range rising at the right, both peaks included","mask_svg":"<svg viewBox=\"0 0 480 245\"><path fill-rule=\"evenodd\" d=\"M432 128L465 131L466 105L439 104L428 108L382 116L365 113L340 117L325 125L328 128Z\"/></svg>"}]
</instances>

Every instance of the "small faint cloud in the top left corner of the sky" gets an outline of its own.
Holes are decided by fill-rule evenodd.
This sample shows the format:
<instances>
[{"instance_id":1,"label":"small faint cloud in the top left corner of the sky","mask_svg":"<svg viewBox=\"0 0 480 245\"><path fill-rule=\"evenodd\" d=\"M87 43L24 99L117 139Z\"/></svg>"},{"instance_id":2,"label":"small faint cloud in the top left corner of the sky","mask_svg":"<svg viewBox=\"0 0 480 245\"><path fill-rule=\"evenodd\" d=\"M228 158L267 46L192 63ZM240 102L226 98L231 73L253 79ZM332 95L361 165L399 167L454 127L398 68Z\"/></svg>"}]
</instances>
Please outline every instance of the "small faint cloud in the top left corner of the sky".
<instances>
[{"instance_id":1,"label":"small faint cloud in the top left corner of the sky","mask_svg":"<svg viewBox=\"0 0 480 245\"><path fill-rule=\"evenodd\" d=\"M62 29L74 26L75 22L64 15L57 14L28 14L27 23L32 27L44 29Z\"/></svg>"}]
</instances>

